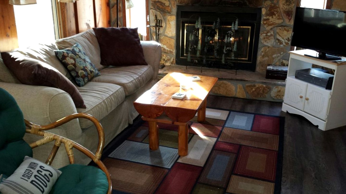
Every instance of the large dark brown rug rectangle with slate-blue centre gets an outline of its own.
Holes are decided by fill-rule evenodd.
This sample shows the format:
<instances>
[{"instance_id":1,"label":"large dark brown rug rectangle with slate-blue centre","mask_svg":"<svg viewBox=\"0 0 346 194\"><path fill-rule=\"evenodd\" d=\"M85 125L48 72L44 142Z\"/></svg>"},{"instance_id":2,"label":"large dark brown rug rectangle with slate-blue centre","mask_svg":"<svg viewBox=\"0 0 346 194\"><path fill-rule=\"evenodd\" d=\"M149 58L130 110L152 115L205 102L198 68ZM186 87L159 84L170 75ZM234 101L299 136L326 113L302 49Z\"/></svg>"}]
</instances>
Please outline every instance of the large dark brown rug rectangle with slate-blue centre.
<instances>
[{"instance_id":1,"label":"large dark brown rug rectangle with slate-blue centre","mask_svg":"<svg viewBox=\"0 0 346 194\"><path fill-rule=\"evenodd\" d=\"M234 153L213 151L198 182L225 188L235 159Z\"/></svg>"}]
</instances>

